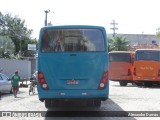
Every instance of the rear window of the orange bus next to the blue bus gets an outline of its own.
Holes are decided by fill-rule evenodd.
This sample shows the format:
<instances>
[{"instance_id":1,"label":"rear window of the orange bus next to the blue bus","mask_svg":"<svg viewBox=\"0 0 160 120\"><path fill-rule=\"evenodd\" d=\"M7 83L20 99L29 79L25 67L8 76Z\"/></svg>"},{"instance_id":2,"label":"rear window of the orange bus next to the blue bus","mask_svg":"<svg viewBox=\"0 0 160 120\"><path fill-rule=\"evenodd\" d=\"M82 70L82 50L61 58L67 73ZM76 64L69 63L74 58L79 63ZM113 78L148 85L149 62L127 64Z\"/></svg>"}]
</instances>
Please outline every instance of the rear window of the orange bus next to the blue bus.
<instances>
[{"instance_id":1,"label":"rear window of the orange bus next to the blue bus","mask_svg":"<svg viewBox=\"0 0 160 120\"><path fill-rule=\"evenodd\" d=\"M130 53L109 54L109 62L131 62Z\"/></svg>"}]
</instances>

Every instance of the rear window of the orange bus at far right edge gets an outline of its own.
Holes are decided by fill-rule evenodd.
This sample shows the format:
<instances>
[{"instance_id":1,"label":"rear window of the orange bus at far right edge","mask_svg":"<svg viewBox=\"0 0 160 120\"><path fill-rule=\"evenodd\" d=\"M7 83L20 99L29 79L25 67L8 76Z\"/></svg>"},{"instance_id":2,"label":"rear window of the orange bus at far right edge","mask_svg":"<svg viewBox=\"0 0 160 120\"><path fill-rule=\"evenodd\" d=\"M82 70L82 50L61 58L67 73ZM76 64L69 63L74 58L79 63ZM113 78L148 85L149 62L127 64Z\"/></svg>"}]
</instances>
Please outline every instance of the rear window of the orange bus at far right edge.
<instances>
[{"instance_id":1,"label":"rear window of the orange bus at far right edge","mask_svg":"<svg viewBox=\"0 0 160 120\"><path fill-rule=\"evenodd\" d=\"M158 51L140 51L136 53L135 60L154 60L159 61Z\"/></svg>"}]
</instances>

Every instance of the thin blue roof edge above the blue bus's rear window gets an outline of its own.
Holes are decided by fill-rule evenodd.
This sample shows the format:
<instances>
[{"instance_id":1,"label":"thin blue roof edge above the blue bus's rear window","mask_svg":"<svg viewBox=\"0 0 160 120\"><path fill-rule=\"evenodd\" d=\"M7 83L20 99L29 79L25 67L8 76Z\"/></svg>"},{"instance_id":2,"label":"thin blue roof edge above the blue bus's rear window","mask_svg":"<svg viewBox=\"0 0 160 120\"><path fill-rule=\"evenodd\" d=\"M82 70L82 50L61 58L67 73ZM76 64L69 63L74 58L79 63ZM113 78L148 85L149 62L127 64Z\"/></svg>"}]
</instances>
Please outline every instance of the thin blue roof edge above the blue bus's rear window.
<instances>
[{"instance_id":1,"label":"thin blue roof edge above the blue bus's rear window","mask_svg":"<svg viewBox=\"0 0 160 120\"><path fill-rule=\"evenodd\" d=\"M94 26L94 25L58 25L58 26L45 26L41 29L50 29L50 28L97 28L97 29L104 29L103 26Z\"/></svg>"}]
</instances>

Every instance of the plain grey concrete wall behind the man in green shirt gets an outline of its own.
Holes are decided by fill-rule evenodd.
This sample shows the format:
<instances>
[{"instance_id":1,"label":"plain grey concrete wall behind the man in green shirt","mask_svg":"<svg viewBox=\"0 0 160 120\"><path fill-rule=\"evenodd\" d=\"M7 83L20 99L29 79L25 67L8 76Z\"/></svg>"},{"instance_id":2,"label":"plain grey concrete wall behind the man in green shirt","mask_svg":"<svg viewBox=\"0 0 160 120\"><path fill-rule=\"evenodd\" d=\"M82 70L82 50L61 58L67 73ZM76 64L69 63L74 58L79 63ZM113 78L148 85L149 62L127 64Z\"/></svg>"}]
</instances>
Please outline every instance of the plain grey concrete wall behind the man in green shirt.
<instances>
[{"instance_id":1,"label":"plain grey concrete wall behind the man in green shirt","mask_svg":"<svg viewBox=\"0 0 160 120\"><path fill-rule=\"evenodd\" d=\"M3 68L2 73L10 78L15 70L19 71L22 79L28 79L31 76L31 61L28 60L0 59L0 68Z\"/></svg>"}]
</instances>

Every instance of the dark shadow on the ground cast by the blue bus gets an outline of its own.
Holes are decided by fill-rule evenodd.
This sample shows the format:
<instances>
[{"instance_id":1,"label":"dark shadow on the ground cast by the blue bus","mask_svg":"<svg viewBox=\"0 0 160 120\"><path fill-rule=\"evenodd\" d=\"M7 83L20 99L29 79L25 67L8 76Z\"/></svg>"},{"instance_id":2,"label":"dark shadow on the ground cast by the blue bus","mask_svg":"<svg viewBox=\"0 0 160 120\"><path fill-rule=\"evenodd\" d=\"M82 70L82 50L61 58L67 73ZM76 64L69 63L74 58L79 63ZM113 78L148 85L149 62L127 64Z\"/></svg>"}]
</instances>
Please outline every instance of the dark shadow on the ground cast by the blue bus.
<instances>
[{"instance_id":1,"label":"dark shadow on the ground cast by the blue bus","mask_svg":"<svg viewBox=\"0 0 160 120\"><path fill-rule=\"evenodd\" d=\"M111 99L108 99L102 101L100 108L87 107L82 102L65 102L64 104L61 104L61 107L49 108L45 113L45 120L50 120L53 117L56 118L56 120L113 120L114 118L123 118L122 120L127 120L128 117L126 116L128 116L128 112L124 111ZM135 120L133 117L129 117L129 119Z\"/></svg>"}]
</instances>

